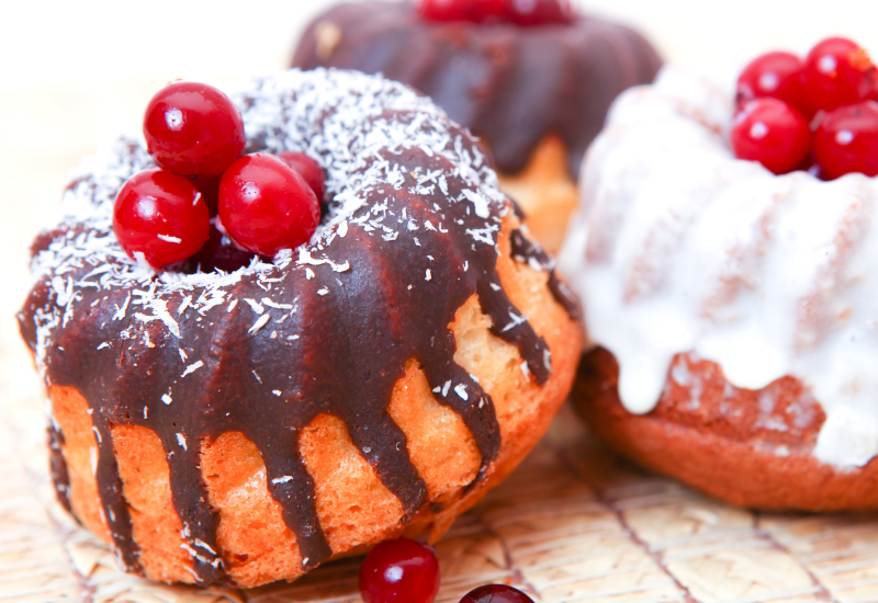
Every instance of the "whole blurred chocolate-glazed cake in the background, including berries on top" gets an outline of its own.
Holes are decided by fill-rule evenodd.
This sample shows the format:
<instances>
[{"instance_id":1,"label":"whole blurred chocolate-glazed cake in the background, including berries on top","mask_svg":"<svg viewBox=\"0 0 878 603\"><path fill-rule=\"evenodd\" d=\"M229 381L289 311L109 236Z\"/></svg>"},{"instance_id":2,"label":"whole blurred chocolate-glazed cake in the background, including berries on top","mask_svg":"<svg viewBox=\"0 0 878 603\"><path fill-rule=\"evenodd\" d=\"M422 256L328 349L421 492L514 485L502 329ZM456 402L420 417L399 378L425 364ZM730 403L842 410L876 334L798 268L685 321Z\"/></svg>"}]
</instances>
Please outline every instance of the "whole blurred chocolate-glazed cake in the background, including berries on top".
<instances>
[{"instance_id":1,"label":"whole blurred chocolate-glazed cake in the background, including berries on top","mask_svg":"<svg viewBox=\"0 0 878 603\"><path fill-rule=\"evenodd\" d=\"M565 2L489 4L339 4L312 21L293 66L381 72L431 96L482 138L502 189L558 251L579 164L610 103L651 82L661 59L635 31Z\"/></svg>"}]
</instances>

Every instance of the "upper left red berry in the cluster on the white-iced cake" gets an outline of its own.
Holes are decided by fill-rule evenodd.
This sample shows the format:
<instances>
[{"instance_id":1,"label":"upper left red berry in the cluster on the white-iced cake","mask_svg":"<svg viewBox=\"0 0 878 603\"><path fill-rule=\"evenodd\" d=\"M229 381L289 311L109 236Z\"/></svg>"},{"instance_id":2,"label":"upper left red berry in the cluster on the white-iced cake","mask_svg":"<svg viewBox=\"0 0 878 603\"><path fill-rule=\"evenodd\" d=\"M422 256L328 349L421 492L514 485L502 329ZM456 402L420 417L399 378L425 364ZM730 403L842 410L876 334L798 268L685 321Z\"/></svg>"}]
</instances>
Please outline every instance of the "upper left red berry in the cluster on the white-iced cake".
<instances>
[{"instance_id":1,"label":"upper left red berry in the cluster on the white-iced cake","mask_svg":"<svg viewBox=\"0 0 878 603\"><path fill-rule=\"evenodd\" d=\"M738 78L738 106L762 98L780 99L802 115L813 113L802 92L802 59L790 53L755 58Z\"/></svg>"}]
</instances>

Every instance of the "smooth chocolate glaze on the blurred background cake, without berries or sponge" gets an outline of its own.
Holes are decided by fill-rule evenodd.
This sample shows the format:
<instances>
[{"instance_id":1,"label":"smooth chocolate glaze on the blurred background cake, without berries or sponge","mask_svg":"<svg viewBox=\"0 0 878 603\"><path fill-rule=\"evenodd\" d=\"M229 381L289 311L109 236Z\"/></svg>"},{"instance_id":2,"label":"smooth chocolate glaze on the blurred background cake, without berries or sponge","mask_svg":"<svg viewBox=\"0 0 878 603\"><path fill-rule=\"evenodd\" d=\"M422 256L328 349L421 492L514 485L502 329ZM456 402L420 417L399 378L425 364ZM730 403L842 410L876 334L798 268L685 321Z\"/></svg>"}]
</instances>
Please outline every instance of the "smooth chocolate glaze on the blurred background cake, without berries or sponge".
<instances>
[{"instance_id":1,"label":"smooth chocolate glaze on the blurred background cake, without berries or sponge","mask_svg":"<svg viewBox=\"0 0 878 603\"><path fill-rule=\"evenodd\" d=\"M328 24L341 33L334 47L319 39ZM419 18L414 2L367 0L317 16L292 65L381 72L415 87L483 137L506 173L521 171L554 133L575 180L612 100L651 82L661 62L639 33L593 16L536 27L442 23Z\"/></svg>"}]
</instances>

